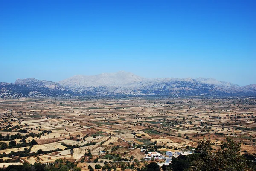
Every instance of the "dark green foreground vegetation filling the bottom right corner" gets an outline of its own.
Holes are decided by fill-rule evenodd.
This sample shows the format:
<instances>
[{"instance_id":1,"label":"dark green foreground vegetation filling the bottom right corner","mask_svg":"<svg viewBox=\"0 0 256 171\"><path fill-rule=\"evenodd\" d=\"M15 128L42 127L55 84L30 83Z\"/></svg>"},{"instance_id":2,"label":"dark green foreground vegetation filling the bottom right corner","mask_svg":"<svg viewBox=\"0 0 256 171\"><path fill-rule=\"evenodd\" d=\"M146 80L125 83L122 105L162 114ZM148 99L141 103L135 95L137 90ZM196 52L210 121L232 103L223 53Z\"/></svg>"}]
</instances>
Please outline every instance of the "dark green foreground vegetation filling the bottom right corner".
<instances>
[{"instance_id":1,"label":"dark green foreground vegetation filling the bottom right corner","mask_svg":"<svg viewBox=\"0 0 256 171\"><path fill-rule=\"evenodd\" d=\"M256 162L250 157L240 155L241 145L233 139L226 138L221 148L213 150L210 140L204 138L198 141L195 154L179 156L172 164L163 165L164 171L255 171Z\"/></svg>"}]
</instances>

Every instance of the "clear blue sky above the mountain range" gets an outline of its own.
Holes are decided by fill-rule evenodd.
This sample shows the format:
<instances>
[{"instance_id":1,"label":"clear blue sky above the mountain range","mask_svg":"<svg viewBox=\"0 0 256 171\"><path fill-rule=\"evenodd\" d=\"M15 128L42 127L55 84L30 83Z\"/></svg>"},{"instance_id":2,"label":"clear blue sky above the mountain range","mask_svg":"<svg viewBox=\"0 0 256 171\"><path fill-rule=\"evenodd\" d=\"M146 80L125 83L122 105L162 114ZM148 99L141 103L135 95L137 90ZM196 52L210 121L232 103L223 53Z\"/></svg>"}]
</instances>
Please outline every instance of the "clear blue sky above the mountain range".
<instances>
[{"instance_id":1,"label":"clear blue sky above the mountain range","mask_svg":"<svg viewBox=\"0 0 256 171\"><path fill-rule=\"evenodd\" d=\"M0 82L124 70L256 84L256 0L1 0Z\"/></svg>"}]
</instances>

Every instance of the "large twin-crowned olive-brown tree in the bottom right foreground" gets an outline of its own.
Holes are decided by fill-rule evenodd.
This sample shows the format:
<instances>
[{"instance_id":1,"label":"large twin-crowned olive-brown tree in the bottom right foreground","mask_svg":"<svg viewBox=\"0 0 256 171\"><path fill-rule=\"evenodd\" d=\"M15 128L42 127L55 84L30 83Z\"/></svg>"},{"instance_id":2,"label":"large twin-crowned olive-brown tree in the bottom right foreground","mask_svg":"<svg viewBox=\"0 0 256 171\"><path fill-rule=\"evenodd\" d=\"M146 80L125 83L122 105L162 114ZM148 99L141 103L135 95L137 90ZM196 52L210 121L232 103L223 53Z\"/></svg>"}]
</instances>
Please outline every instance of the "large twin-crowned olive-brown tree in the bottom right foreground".
<instances>
[{"instance_id":1,"label":"large twin-crowned olive-brown tree in the bottom right foreground","mask_svg":"<svg viewBox=\"0 0 256 171\"><path fill-rule=\"evenodd\" d=\"M247 165L245 157L239 154L241 145L235 144L229 137L225 140L217 151L211 149L208 140L199 141L196 149L201 155L192 162L189 171L253 171L253 168Z\"/></svg>"}]
</instances>

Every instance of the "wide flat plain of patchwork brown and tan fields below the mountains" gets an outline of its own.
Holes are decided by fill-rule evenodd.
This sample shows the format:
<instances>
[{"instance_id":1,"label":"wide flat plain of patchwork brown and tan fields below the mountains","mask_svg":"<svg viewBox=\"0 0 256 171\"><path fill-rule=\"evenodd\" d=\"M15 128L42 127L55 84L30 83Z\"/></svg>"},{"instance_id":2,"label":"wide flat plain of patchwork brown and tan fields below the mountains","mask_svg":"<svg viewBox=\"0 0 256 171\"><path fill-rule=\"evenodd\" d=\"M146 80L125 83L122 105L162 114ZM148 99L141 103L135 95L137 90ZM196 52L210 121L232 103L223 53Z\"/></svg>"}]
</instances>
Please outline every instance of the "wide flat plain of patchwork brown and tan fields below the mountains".
<instances>
[{"instance_id":1,"label":"wide flat plain of patchwork brown and tan fields below the mountains","mask_svg":"<svg viewBox=\"0 0 256 171\"><path fill-rule=\"evenodd\" d=\"M85 153L88 152L99 160L107 153L140 159L145 156L140 148L161 146L159 151L163 154L167 150L193 150L198 139L204 137L218 149L227 136L241 144L241 154L256 154L256 99L251 97L109 96L0 101L0 142L23 143L20 147L1 148L0 154L13 154L12 151L22 152L27 148L34 155L22 159L29 163L56 159L75 162L83 158L87 162ZM11 138L17 134L18 138ZM30 147L32 141L37 145ZM37 154L38 150L44 154ZM79 165L83 167L88 163Z\"/></svg>"}]
</instances>

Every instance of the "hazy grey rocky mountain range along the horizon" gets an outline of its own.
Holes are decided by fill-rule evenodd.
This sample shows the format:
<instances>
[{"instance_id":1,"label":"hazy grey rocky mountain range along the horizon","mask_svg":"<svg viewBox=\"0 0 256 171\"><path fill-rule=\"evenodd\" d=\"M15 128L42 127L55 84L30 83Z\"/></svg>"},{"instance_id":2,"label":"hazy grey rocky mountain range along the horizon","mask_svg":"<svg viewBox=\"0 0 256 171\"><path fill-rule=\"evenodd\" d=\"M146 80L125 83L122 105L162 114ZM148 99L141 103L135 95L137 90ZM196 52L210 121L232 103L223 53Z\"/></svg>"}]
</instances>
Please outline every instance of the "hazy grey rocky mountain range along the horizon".
<instances>
[{"instance_id":1,"label":"hazy grey rocky mountain range along the horizon","mask_svg":"<svg viewBox=\"0 0 256 171\"><path fill-rule=\"evenodd\" d=\"M35 78L0 83L0 97L84 95L256 96L256 84L214 78L143 78L130 72L76 75L58 83Z\"/></svg>"}]
</instances>

